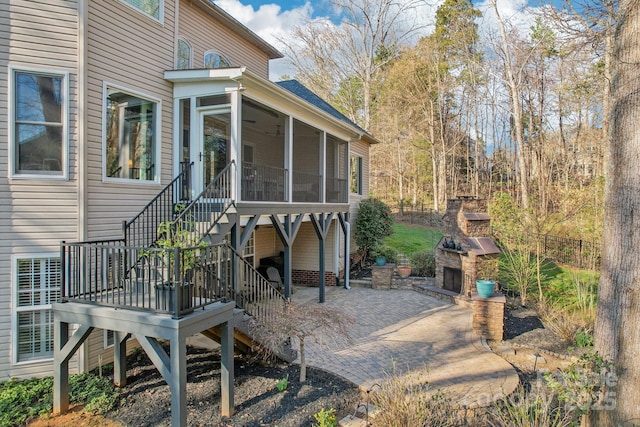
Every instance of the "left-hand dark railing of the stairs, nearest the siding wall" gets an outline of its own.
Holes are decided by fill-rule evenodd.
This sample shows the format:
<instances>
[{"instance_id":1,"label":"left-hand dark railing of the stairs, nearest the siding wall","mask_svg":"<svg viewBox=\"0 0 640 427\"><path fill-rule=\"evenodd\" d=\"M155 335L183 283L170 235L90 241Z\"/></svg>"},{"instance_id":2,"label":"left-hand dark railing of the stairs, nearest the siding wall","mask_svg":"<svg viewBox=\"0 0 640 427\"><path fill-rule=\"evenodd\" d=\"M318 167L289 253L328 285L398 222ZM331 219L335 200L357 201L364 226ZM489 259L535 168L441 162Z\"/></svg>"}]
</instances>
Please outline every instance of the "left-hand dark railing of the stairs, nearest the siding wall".
<instances>
[{"instance_id":1,"label":"left-hand dark railing of the stairs, nearest the siding wall","mask_svg":"<svg viewBox=\"0 0 640 427\"><path fill-rule=\"evenodd\" d=\"M138 215L123 221L125 246L151 247L158 240L158 227L163 222L173 221L178 203L191 200L191 168L193 162L180 163L180 173L156 195Z\"/></svg>"}]
</instances>

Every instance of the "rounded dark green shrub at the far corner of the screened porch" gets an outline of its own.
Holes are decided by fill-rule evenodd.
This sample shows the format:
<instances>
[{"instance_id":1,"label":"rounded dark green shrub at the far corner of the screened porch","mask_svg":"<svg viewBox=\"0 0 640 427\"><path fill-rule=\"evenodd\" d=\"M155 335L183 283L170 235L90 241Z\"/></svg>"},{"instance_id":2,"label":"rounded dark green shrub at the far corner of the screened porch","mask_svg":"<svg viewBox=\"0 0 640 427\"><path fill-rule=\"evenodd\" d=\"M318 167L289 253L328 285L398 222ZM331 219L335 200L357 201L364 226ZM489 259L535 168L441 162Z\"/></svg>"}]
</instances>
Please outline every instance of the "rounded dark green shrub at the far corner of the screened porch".
<instances>
[{"instance_id":1,"label":"rounded dark green shrub at the far corner of the screened porch","mask_svg":"<svg viewBox=\"0 0 640 427\"><path fill-rule=\"evenodd\" d=\"M393 215L389 206L379 199L360 202L354 237L363 256L379 246L385 237L393 233Z\"/></svg>"}]
</instances>

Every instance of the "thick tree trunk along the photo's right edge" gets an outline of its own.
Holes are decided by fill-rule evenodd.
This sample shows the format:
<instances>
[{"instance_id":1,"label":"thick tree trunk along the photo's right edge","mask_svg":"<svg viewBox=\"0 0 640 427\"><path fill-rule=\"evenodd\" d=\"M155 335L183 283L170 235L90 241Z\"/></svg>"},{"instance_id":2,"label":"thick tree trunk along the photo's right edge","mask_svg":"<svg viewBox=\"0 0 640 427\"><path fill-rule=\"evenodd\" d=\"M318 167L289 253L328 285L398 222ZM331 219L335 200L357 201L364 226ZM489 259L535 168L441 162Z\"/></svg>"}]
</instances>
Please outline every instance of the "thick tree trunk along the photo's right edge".
<instances>
[{"instance_id":1,"label":"thick tree trunk along the photo's right edge","mask_svg":"<svg viewBox=\"0 0 640 427\"><path fill-rule=\"evenodd\" d=\"M638 425L640 420L640 5L622 0L611 81L609 170L596 350L614 362L615 407L594 411L591 426Z\"/></svg>"}]
</instances>

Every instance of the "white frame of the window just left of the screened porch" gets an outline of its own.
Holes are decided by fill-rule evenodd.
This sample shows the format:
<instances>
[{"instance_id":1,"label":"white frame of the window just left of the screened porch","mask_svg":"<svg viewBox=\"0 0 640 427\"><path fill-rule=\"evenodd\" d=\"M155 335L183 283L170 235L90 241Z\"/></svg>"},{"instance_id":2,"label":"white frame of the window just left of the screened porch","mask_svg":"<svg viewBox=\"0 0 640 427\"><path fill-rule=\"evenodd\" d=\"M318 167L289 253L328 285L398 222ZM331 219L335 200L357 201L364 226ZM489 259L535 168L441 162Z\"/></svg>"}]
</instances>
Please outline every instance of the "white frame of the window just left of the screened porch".
<instances>
[{"instance_id":1,"label":"white frame of the window just left of the screened porch","mask_svg":"<svg viewBox=\"0 0 640 427\"><path fill-rule=\"evenodd\" d=\"M107 97L109 96L109 90L117 90L127 93L129 95L137 96L146 101L154 102L156 104L155 125L154 133L156 135L154 143L156 146L154 162L157 165L155 167L155 177L153 180L131 179L131 178L116 178L107 176ZM147 95L142 92L138 92L133 89L129 89L117 84L103 82L102 84L102 181L111 183L124 183L134 185L157 185L161 182L161 161L162 161L162 100L152 95Z\"/></svg>"}]
</instances>

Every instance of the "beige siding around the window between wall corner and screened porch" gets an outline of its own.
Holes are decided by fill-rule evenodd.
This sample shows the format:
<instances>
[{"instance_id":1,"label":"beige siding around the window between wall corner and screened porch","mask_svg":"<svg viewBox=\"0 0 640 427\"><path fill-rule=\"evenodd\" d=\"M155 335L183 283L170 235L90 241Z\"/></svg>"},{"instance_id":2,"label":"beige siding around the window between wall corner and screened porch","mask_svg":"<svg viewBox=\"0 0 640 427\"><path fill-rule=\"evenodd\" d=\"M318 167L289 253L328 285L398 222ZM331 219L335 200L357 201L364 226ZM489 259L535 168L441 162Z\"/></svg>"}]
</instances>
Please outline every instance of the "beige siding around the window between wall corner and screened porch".
<instances>
[{"instance_id":1,"label":"beige siding around the window between wall corner and screened porch","mask_svg":"<svg viewBox=\"0 0 640 427\"><path fill-rule=\"evenodd\" d=\"M87 46L87 234L90 239L122 237L131 219L172 179L173 89L164 80L173 69L174 2L166 0L164 23L117 0L91 1ZM159 183L103 182L104 84L161 101Z\"/></svg>"}]
</instances>

